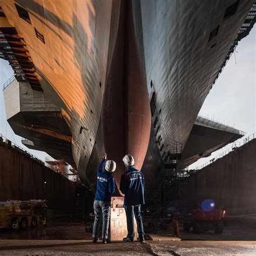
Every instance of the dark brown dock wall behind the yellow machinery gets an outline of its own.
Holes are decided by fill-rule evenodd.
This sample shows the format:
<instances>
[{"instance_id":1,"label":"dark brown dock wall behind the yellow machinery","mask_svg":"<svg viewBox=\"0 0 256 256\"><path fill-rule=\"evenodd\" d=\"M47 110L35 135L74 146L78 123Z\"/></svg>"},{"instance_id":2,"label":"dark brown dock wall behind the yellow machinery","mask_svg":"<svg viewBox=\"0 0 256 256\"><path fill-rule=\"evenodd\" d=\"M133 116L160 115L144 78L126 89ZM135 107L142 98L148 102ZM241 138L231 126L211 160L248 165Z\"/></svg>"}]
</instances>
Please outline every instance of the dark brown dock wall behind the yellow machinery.
<instances>
[{"instance_id":1,"label":"dark brown dock wall behind the yellow machinery","mask_svg":"<svg viewBox=\"0 0 256 256\"><path fill-rule=\"evenodd\" d=\"M46 199L56 214L72 214L76 194L76 185L60 173L0 141L0 201Z\"/></svg>"}]
</instances>

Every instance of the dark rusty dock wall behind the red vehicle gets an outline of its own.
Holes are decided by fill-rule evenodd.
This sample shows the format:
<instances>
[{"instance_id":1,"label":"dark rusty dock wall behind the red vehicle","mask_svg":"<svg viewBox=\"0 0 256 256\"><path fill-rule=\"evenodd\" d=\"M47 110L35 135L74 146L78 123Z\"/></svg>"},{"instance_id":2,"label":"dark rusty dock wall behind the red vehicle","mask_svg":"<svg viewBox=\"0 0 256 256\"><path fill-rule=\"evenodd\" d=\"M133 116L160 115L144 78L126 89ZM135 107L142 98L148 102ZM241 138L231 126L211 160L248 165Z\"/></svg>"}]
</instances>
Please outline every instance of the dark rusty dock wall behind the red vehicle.
<instances>
[{"instance_id":1,"label":"dark rusty dock wall behind the red vehicle","mask_svg":"<svg viewBox=\"0 0 256 256\"><path fill-rule=\"evenodd\" d=\"M232 215L256 213L256 139L193 174L186 198L213 199Z\"/></svg>"}]
</instances>

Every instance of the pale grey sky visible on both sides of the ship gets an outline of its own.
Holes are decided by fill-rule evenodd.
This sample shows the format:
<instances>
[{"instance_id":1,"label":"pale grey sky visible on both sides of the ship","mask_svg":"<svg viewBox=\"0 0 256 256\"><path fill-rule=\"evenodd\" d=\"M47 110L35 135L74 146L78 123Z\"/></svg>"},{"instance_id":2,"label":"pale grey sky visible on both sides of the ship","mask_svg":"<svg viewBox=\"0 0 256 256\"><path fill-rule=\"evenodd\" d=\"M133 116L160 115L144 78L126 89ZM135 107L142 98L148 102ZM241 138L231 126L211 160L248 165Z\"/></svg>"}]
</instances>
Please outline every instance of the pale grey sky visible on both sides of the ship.
<instances>
[{"instance_id":1,"label":"pale grey sky visible on both sides of the ship","mask_svg":"<svg viewBox=\"0 0 256 256\"><path fill-rule=\"evenodd\" d=\"M228 61L200 111L206 117L218 119L226 124L234 124L235 128L245 131L246 136L256 131L255 43L254 27L250 35L239 42L237 52ZM12 75L8 62L0 59L0 86ZM16 136L6 122L2 90L0 90L0 133L26 148L21 143L21 137ZM211 157L198 160L190 167L200 166L230 146L227 145L224 149L214 152ZM42 160L48 156L44 152L26 150Z\"/></svg>"}]
</instances>

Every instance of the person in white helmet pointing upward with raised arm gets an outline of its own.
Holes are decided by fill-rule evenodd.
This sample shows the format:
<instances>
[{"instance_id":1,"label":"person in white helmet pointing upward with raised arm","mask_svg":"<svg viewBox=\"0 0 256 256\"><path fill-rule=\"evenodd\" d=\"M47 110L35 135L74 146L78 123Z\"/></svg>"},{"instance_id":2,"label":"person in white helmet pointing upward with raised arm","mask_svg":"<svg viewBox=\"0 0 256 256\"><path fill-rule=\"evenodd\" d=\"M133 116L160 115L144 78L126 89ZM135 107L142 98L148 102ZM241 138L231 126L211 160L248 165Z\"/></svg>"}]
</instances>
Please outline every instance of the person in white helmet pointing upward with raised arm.
<instances>
[{"instance_id":1,"label":"person in white helmet pointing upward with raised arm","mask_svg":"<svg viewBox=\"0 0 256 256\"><path fill-rule=\"evenodd\" d=\"M99 225L103 215L102 242L106 244L109 242L109 240L107 240L107 232L109 230L110 200L111 194L114 193L115 190L112 173L116 170L116 163L112 160L106 160L106 154L102 159L102 163L100 163L97 170L97 191L93 203L95 221L93 224L92 237L93 242L98 242Z\"/></svg>"}]
</instances>

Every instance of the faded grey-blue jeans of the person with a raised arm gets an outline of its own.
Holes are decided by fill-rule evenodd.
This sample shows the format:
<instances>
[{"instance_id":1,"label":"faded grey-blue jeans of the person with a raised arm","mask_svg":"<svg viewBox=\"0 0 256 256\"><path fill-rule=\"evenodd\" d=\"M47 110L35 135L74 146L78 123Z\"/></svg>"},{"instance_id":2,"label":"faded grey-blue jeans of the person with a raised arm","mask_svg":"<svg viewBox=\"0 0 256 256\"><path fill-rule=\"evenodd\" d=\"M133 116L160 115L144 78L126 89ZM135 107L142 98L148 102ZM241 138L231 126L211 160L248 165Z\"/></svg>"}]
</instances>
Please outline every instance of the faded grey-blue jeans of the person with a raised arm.
<instances>
[{"instance_id":1,"label":"faded grey-blue jeans of the person with a raised arm","mask_svg":"<svg viewBox=\"0 0 256 256\"><path fill-rule=\"evenodd\" d=\"M107 238L107 233L109 231L109 218L110 218L110 202L104 202L95 200L93 203L95 220L93 224L92 237L99 237L99 225L102 222L103 215L103 225L102 225L102 238Z\"/></svg>"}]
</instances>

